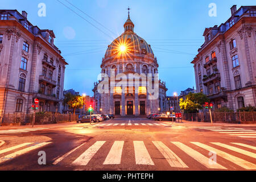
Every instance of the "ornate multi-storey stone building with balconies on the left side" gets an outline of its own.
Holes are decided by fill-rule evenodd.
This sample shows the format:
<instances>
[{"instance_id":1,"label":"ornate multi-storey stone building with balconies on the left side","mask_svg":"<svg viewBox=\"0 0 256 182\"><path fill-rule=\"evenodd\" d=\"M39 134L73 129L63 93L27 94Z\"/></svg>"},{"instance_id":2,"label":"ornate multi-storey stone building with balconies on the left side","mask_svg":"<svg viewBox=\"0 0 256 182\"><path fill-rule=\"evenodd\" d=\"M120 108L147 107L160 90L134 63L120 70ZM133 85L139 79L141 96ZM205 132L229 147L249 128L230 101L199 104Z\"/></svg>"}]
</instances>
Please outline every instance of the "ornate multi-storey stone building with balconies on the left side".
<instances>
[{"instance_id":1,"label":"ornate multi-storey stone building with balconies on the left side","mask_svg":"<svg viewBox=\"0 0 256 182\"><path fill-rule=\"evenodd\" d=\"M65 65L52 30L40 30L26 11L0 10L0 113L61 112Z\"/></svg>"}]
</instances>

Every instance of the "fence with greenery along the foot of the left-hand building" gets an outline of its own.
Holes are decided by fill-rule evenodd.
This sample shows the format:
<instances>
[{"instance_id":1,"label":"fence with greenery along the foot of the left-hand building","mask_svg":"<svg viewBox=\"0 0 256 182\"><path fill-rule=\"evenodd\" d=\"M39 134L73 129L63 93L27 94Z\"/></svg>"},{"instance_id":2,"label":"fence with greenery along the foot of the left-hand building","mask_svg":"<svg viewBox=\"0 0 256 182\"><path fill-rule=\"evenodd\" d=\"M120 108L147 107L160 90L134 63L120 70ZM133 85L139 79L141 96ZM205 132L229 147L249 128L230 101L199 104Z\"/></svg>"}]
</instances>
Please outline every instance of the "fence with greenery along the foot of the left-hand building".
<instances>
[{"instance_id":1,"label":"fence with greenery along the foot of the left-hand building","mask_svg":"<svg viewBox=\"0 0 256 182\"><path fill-rule=\"evenodd\" d=\"M1 118L1 116L0 116ZM32 123L33 114L3 114L2 125L30 125ZM35 124L44 125L57 122L71 122L76 121L78 115L73 114L35 114ZM0 123L1 125L1 123Z\"/></svg>"}]
</instances>

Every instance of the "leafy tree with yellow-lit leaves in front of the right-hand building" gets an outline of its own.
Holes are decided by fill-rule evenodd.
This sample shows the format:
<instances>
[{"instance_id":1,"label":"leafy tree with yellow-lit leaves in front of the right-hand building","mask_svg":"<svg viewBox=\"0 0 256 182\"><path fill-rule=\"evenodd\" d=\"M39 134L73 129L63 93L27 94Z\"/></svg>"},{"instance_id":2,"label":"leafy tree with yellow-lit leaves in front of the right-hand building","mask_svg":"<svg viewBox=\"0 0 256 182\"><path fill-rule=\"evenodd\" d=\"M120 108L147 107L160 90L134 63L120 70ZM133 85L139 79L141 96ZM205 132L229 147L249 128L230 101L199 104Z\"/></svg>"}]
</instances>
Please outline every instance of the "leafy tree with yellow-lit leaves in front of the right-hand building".
<instances>
[{"instance_id":1,"label":"leafy tree with yellow-lit leaves in front of the right-hand building","mask_svg":"<svg viewBox=\"0 0 256 182\"><path fill-rule=\"evenodd\" d=\"M180 99L180 109L184 113L198 113L200 109L203 109L205 102L209 102L209 98L203 93L189 93L186 99Z\"/></svg>"}]
</instances>

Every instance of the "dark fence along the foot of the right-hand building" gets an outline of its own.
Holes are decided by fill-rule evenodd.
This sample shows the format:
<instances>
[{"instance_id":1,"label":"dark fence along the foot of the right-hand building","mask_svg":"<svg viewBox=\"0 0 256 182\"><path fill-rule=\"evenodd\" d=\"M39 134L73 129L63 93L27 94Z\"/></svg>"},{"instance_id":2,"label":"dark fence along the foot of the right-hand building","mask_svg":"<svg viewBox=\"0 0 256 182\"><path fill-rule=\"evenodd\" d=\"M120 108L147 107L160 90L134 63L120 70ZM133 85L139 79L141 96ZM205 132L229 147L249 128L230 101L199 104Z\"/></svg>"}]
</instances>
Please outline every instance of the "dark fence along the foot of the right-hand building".
<instances>
[{"instance_id":1,"label":"dark fence along the foot of the right-hand building","mask_svg":"<svg viewBox=\"0 0 256 182\"><path fill-rule=\"evenodd\" d=\"M210 113L187 113L183 114L183 119L187 121L210 122ZM220 113L212 111L212 121L222 123L256 123L256 112L229 112Z\"/></svg>"}]
</instances>

